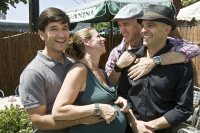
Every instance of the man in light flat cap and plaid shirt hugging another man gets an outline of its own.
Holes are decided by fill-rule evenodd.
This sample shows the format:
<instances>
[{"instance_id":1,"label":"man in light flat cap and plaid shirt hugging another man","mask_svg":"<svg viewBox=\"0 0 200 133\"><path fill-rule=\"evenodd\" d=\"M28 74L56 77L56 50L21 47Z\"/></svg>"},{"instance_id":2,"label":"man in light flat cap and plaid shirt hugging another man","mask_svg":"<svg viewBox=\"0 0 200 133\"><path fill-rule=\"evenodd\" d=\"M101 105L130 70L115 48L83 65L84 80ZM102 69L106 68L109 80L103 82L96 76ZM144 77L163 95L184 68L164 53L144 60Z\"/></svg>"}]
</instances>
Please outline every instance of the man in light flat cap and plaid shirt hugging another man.
<instances>
[{"instance_id":1,"label":"man in light flat cap and plaid shirt hugging another man","mask_svg":"<svg viewBox=\"0 0 200 133\"><path fill-rule=\"evenodd\" d=\"M141 26L138 24L137 18L142 15L143 9L139 4L128 4L121 8L113 18L113 21L118 23L120 33L123 36L122 42L111 51L105 66L106 73L111 75L111 77L115 79L114 81L118 79L120 75L118 74L119 71L122 71L124 67L130 65L131 62L136 59L136 56L140 56L137 51L143 45L143 41L140 35ZM156 65L187 62L200 54L198 45L192 42L170 37L169 41L174 45L171 51L148 59L142 58L137 65L130 68L130 78L134 80L139 79L146 73L150 72ZM122 55L122 53L124 54ZM121 58L119 58L120 56ZM123 60L124 58L126 60ZM115 71L114 68L116 68ZM121 79L127 79L126 77L127 75ZM122 84L122 87L124 88L124 84ZM128 86L125 88L127 87ZM121 92L119 89L119 92L122 93L122 95L125 95L127 90L123 89Z\"/></svg>"}]
</instances>

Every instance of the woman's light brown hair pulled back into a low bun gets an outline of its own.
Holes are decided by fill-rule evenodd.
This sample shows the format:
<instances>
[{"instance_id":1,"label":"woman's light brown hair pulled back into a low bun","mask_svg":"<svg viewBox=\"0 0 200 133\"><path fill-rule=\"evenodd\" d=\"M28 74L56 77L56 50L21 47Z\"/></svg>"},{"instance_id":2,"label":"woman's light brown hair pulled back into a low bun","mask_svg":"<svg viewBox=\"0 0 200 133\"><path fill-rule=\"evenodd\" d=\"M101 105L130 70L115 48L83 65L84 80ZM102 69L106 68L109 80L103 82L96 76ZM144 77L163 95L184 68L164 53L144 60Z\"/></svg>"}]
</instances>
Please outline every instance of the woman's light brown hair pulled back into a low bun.
<instances>
[{"instance_id":1,"label":"woman's light brown hair pulled back into a low bun","mask_svg":"<svg viewBox=\"0 0 200 133\"><path fill-rule=\"evenodd\" d=\"M87 27L77 31L68 43L65 53L75 60L82 59L85 56L85 45L83 39L92 38L90 33L91 30L94 30L94 28Z\"/></svg>"}]
</instances>

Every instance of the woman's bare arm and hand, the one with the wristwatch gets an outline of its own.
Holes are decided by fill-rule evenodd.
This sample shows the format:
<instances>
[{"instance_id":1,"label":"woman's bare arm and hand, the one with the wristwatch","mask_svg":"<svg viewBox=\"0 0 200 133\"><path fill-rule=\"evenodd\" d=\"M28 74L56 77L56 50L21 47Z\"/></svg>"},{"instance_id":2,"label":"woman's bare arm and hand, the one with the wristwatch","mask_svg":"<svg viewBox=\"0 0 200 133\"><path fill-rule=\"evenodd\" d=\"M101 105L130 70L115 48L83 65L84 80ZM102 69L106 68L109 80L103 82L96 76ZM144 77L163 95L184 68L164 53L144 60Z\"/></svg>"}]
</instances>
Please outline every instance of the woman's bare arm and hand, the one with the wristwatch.
<instances>
[{"instance_id":1,"label":"woman's bare arm and hand, the one with the wristwatch","mask_svg":"<svg viewBox=\"0 0 200 133\"><path fill-rule=\"evenodd\" d=\"M87 69L83 64L76 64L68 72L55 100L52 114L55 120L76 120L94 114L95 105L73 105L78 94L85 90ZM109 123L116 115L116 109L108 104L99 104L101 116Z\"/></svg>"}]
</instances>

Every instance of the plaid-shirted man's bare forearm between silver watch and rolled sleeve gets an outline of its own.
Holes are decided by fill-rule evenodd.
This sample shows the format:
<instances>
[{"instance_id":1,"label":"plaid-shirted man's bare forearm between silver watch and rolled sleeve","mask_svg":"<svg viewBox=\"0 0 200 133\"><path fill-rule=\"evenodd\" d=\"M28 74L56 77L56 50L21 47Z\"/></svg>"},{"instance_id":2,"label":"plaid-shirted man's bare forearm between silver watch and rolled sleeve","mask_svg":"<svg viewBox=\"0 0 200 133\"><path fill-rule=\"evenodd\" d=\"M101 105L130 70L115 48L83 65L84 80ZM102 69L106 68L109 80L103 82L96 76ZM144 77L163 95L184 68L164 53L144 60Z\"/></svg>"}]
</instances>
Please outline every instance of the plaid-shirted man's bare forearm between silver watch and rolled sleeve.
<instances>
[{"instance_id":1,"label":"plaid-shirted man's bare forearm between silver watch and rolled sleeve","mask_svg":"<svg viewBox=\"0 0 200 133\"><path fill-rule=\"evenodd\" d=\"M160 55L160 58L161 58L161 65L177 64L186 61L185 54L172 51Z\"/></svg>"}]
</instances>

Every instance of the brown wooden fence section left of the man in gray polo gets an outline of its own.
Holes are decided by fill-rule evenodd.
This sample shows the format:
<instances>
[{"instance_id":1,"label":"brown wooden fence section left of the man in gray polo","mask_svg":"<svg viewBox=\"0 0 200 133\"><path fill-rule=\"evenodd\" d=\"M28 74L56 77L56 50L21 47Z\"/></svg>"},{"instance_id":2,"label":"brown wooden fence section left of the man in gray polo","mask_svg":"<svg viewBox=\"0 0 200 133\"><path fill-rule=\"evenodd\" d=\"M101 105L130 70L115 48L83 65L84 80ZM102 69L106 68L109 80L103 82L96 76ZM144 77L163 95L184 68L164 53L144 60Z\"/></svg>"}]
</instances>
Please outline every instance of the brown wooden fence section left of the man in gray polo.
<instances>
[{"instance_id":1,"label":"brown wooden fence section left of the man in gray polo","mask_svg":"<svg viewBox=\"0 0 200 133\"><path fill-rule=\"evenodd\" d=\"M0 89L12 95L22 70L44 46L35 33L5 34L0 37Z\"/></svg>"}]
</instances>

